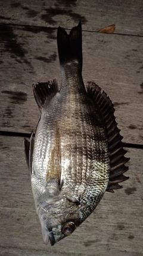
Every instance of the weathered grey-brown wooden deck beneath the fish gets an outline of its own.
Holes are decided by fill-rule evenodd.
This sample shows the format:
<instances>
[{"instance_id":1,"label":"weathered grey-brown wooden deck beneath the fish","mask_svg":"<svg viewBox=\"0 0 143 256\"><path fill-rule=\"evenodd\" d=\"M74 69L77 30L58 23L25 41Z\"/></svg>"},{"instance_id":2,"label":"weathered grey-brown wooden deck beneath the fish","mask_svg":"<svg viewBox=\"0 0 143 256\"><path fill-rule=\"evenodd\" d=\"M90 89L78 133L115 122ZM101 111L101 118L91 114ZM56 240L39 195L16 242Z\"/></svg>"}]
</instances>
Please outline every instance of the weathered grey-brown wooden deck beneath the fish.
<instances>
[{"instance_id":1,"label":"weathered grey-brown wooden deck beneath the fish","mask_svg":"<svg viewBox=\"0 0 143 256\"><path fill-rule=\"evenodd\" d=\"M139 1L0 1L0 255L143 255L143 5ZM55 246L43 245L23 137L39 120L32 83L61 73L57 28L82 21L83 80L95 81L116 109L130 179ZM116 25L114 34L100 34ZM13 136L8 136L15 132Z\"/></svg>"}]
</instances>

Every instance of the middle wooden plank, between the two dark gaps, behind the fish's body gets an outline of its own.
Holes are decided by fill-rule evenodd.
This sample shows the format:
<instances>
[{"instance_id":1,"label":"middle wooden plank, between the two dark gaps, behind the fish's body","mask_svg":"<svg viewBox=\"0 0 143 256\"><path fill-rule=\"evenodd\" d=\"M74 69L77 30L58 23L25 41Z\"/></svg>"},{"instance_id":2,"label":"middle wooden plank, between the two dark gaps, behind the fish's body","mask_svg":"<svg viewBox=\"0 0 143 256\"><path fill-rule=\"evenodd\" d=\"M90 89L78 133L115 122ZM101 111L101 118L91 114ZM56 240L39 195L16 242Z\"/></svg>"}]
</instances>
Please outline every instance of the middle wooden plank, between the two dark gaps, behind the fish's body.
<instances>
[{"instance_id":1,"label":"middle wooden plank, between the two dark gaps, behind the fish's body","mask_svg":"<svg viewBox=\"0 0 143 256\"><path fill-rule=\"evenodd\" d=\"M1 25L0 129L31 132L39 110L32 83L57 78L57 29ZM116 108L127 143L143 143L141 37L83 32L83 79L94 80Z\"/></svg>"}]
</instances>

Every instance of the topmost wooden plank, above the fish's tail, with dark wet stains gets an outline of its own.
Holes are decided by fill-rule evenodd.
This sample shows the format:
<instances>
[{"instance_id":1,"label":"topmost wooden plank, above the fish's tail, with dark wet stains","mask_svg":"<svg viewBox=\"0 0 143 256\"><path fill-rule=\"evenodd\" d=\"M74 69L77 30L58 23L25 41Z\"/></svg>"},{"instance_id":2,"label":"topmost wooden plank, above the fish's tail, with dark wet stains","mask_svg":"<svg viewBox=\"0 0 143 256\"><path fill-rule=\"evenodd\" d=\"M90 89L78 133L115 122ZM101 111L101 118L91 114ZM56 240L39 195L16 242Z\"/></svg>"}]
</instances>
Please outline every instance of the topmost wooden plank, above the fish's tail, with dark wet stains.
<instances>
[{"instance_id":1,"label":"topmost wooden plank, above the fish's tail, with dark wet stains","mask_svg":"<svg viewBox=\"0 0 143 256\"><path fill-rule=\"evenodd\" d=\"M86 31L116 24L117 34L143 35L142 0L1 1L1 23L71 28L82 21Z\"/></svg>"}]
</instances>

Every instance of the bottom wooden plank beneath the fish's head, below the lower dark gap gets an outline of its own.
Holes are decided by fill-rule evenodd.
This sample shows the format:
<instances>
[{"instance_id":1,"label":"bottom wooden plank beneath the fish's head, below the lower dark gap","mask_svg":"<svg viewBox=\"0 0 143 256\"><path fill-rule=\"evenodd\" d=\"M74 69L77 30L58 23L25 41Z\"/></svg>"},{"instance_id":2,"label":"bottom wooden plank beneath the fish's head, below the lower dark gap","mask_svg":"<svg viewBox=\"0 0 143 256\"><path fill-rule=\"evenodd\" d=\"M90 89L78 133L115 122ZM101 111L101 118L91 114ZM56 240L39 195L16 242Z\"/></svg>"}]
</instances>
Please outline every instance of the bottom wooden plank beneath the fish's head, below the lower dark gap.
<instances>
[{"instance_id":1,"label":"bottom wooden plank beneath the fish's head, below the lower dark gap","mask_svg":"<svg viewBox=\"0 0 143 256\"><path fill-rule=\"evenodd\" d=\"M114 194L106 192L97 209L71 236L55 246L45 246L24 159L23 138L0 139L1 256L143 255L141 149L129 149L130 179L123 183L123 189Z\"/></svg>"}]
</instances>

